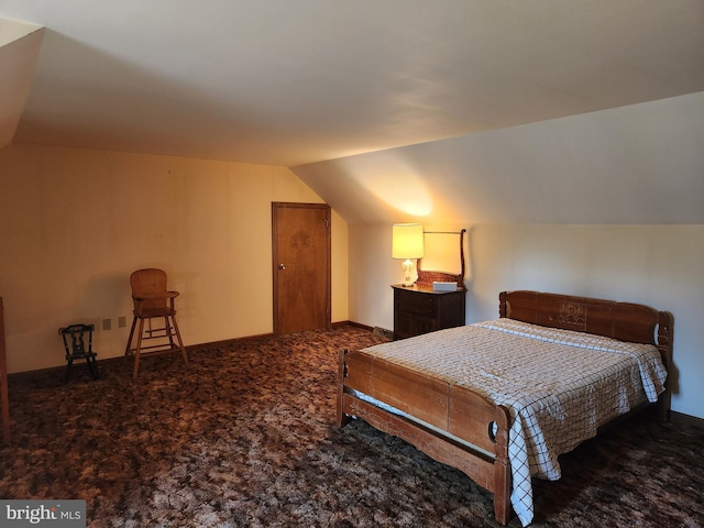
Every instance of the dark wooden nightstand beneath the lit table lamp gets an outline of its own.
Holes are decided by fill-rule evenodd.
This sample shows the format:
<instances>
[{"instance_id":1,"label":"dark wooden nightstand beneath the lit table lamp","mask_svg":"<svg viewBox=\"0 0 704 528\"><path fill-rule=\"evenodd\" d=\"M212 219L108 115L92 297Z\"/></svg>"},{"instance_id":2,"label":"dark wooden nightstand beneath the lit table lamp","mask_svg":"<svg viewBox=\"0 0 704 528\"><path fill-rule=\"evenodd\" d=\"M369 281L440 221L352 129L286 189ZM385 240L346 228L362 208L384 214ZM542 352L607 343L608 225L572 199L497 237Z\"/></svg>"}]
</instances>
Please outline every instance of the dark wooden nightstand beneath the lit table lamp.
<instances>
[{"instance_id":1,"label":"dark wooden nightstand beneath the lit table lamp","mask_svg":"<svg viewBox=\"0 0 704 528\"><path fill-rule=\"evenodd\" d=\"M436 292L432 284L394 288L394 339L411 338L465 323L466 289Z\"/></svg>"}]
</instances>

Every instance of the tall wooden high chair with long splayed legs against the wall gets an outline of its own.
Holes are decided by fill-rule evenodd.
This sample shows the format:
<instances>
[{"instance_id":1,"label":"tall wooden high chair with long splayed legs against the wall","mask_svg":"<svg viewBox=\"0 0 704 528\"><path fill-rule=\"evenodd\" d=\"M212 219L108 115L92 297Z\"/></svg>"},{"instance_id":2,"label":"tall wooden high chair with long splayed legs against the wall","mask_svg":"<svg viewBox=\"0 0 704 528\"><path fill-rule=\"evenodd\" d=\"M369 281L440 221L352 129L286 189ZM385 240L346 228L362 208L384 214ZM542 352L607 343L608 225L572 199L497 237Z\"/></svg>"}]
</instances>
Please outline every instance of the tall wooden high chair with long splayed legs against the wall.
<instances>
[{"instance_id":1,"label":"tall wooden high chair with long splayed legs against the wall","mask_svg":"<svg viewBox=\"0 0 704 528\"><path fill-rule=\"evenodd\" d=\"M136 377L139 373L140 356L145 354L155 355L180 351L184 363L188 366L188 355L180 339L176 323L176 308L174 307L174 299L179 294L166 289L166 273L153 267L138 270L130 275L130 285L132 286L134 318L124 355L125 358L134 356L133 377ZM153 320L156 322L153 323ZM135 329L136 344L132 346ZM144 342L153 344L145 346Z\"/></svg>"}]
</instances>

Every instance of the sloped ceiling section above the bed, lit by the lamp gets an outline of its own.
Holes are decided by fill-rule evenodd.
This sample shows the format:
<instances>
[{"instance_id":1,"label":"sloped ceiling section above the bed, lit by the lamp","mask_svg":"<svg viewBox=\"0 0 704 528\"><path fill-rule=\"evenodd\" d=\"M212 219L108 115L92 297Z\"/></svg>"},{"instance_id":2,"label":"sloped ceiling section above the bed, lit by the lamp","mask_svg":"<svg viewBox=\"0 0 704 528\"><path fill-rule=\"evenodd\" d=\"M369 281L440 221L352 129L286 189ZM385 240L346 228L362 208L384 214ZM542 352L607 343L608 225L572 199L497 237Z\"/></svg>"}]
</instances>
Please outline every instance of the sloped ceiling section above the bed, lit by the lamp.
<instances>
[{"instance_id":1,"label":"sloped ceiling section above the bed, lit by the lamp","mask_svg":"<svg viewBox=\"0 0 704 528\"><path fill-rule=\"evenodd\" d=\"M350 223L704 224L704 92L294 170Z\"/></svg>"}]
</instances>

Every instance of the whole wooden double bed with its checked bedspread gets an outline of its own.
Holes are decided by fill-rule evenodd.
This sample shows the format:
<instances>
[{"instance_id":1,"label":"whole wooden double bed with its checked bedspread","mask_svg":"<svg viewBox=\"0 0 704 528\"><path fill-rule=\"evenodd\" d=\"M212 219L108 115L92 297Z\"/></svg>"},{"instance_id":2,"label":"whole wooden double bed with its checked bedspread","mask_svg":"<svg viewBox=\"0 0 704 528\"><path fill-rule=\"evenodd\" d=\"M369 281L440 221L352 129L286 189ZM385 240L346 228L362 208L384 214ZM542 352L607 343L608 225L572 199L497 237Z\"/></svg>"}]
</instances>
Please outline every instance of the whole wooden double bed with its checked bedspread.
<instances>
[{"instance_id":1,"label":"whole wooden double bed with its checked bedspread","mask_svg":"<svg viewBox=\"0 0 704 528\"><path fill-rule=\"evenodd\" d=\"M644 305L504 292L499 318L342 350L339 427L355 418L458 468L496 520L534 516L532 477L604 426L654 406L669 419L673 316Z\"/></svg>"}]
</instances>

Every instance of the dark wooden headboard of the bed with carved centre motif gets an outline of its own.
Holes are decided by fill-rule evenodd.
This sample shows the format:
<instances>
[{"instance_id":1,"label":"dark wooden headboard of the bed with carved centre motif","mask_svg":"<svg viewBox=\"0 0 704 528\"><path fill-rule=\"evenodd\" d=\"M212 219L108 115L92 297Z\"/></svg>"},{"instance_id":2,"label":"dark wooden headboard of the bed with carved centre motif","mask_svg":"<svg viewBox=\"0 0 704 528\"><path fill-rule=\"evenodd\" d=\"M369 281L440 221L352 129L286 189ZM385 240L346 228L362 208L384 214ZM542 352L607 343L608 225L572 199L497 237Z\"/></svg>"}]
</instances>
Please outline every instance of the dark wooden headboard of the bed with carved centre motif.
<instances>
[{"instance_id":1,"label":"dark wooden headboard of the bed with carved centre motif","mask_svg":"<svg viewBox=\"0 0 704 528\"><path fill-rule=\"evenodd\" d=\"M674 317L645 305L615 300L543 294L540 292L502 292L501 317L550 328L605 336L632 343L653 344L660 351L668 372L672 365ZM660 398L662 417L670 410L670 378Z\"/></svg>"}]
</instances>

